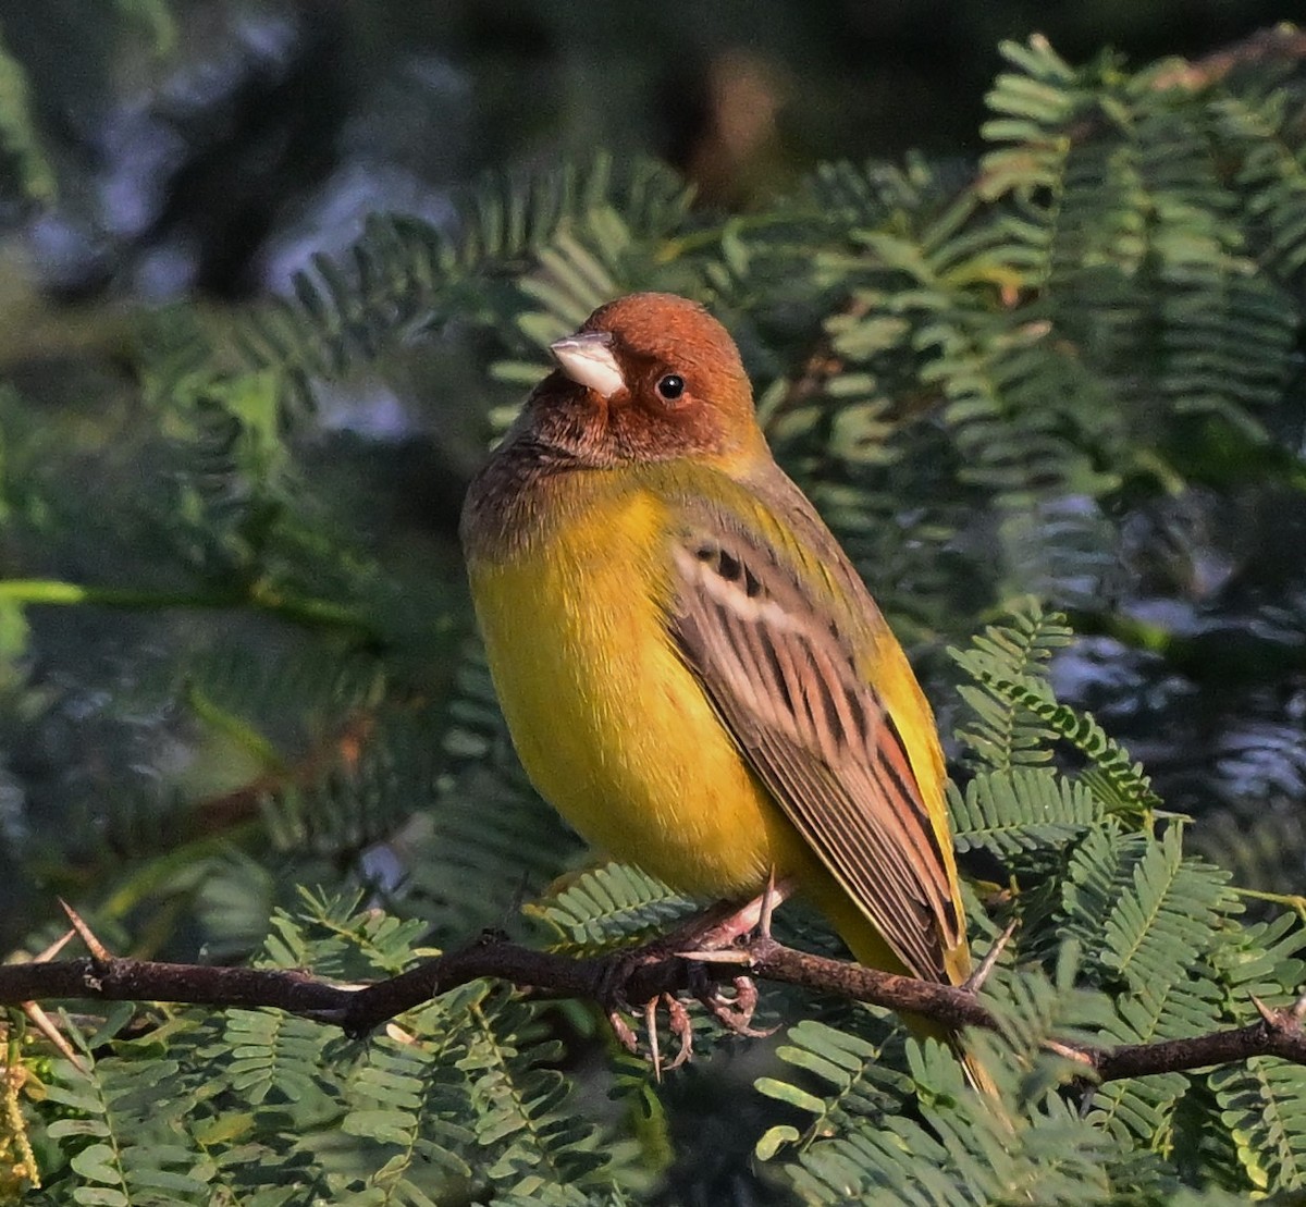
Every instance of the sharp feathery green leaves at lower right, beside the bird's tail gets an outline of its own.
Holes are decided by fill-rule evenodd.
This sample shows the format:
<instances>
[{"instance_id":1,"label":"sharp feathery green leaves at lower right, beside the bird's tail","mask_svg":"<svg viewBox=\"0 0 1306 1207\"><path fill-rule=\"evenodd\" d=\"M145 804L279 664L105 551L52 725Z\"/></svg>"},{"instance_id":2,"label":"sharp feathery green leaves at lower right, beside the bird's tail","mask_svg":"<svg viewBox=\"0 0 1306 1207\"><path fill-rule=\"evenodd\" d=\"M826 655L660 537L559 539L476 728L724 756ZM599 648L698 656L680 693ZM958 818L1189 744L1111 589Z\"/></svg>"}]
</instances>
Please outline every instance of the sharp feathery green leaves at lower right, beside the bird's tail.
<instances>
[{"instance_id":1,"label":"sharp feathery green leaves at lower right, beside the bird's tail","mask_svg":"<svg viewBox=\"0 0 1306 1207\"><path fill-rule=\"evenodd\" d=\"M1002 1108L978 1123L957 1114L968 1092L956 1065L929 1048L909 1049L904 1078L885 1065L883 1037L866 1033L874 1020L798 1024L778 1052L791 1071L757 1089L807 1122L773 1126L759 1155L786 1161L804 1202L888 1187L929 1203L1169 1202L1195 1178L1218 1202L1222 1190L1301 1186L1297 1066L1267 1059L1088 1091L1072 1089L1074 1067L1046 1048L1050 1036L1147 1044L1243 1025L1254 994L1296 997L1306 942L1292 916L1239 925L1228 874L1185 854L1182 824L1140 828L1145 814L1118 809L1098 786L1126 759L1114 745L1081 746L1084 765L1067 773L1050 765L1067 726L1043 728L1060 708L1047 658L1068 640L1059 618L1024 605L955 652L985 684L963 688L973 718L961 732L980 769L949 794L956 841L1006 863L1003 908L1020 922L990 982L1000 1032L970 1040ZM995 682L1024 686L995 692Z\"/></svg>"}]
</instances>

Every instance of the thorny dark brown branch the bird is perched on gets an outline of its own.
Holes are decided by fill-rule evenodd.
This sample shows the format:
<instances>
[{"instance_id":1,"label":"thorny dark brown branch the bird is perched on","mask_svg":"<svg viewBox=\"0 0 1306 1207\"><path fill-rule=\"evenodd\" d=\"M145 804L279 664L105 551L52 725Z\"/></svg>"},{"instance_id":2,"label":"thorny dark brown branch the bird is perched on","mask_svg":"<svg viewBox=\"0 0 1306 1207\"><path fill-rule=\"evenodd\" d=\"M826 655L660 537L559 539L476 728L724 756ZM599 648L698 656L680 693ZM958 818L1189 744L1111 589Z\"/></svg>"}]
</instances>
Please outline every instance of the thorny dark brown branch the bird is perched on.
<instances>
[{"instance_id":1,"label":"thorny dark brown branch the bird is perched on","mask_svg":"<svg viewBox=\"0 0 1306 1207\"><path fill-rule=\"evenodd\" d=\"M611 1006L639 1006L662 994L701 993L704 985L741 973L801 985L818 993L870 1002L922 1015L949 1028L994 1029L993 1012L970 990L895 976L844 960L784 947L761 935L725 961L700 963L667 950L665 939L597 958L535 951L496 934L363 988L319 980L308 972L213 968L110 955L74 916L93 954L73 960L0 965L0 1006L52 998L178 1002L244 1008L272 1007L337 1025L362 1036L375 1027L469 981L494 978L549 997L581 998ZM1256 1002L1262 1019L1250 1027L1186 1040L1067 1048L1102 1082L1280 1057L1306 1065L1306 997L1272 1008Z\"/></svg>"}]
</instances>

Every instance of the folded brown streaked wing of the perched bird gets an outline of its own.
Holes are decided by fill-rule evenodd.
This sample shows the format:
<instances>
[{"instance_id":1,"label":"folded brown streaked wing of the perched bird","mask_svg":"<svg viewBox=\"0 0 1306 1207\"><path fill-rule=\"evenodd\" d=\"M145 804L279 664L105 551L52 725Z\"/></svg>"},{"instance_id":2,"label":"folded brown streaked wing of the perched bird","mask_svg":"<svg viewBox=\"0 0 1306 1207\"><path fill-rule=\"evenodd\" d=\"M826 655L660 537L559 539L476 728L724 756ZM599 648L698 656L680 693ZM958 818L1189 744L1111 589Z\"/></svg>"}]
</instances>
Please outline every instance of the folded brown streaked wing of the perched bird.
<instances>
[{"instance_id":1,"label":"folded brown streaked wing of the perched bird","mask_svg":"<svg viewBox=\"0 0 1306 1207\"><path fill-rule=\"evenodd\" d=\"M939 837L833 610L721 516L674 554L673 636L754 772L904 965L947 980L961 930Z\"/></svg>"}]
</instances>

